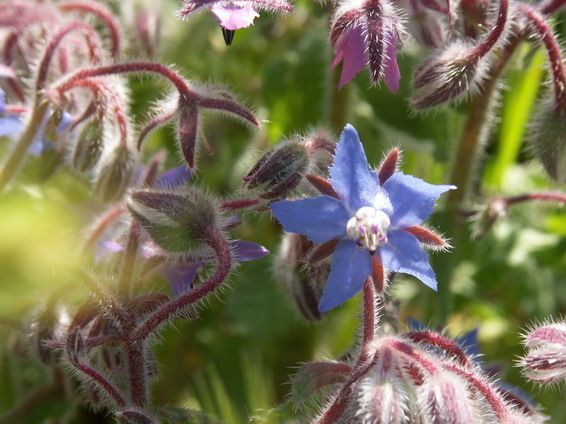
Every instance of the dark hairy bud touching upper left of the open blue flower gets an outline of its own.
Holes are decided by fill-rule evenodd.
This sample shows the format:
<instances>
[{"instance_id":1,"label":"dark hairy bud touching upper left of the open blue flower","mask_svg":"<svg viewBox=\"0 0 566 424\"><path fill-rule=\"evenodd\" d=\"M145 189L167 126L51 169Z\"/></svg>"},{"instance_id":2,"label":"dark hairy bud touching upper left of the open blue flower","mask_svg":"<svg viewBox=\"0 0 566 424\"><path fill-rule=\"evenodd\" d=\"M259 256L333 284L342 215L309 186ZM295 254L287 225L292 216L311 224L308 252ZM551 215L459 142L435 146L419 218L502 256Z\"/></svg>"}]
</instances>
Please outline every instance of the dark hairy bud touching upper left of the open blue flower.
<instances>
[{"instance_id":1,"label":"dark hairy bud touching upper left of the open blue flower","mask_svg":"<svg viewBox=\"0 0 566 424\"><path fill-rule=\"evenodd\" d=\"M258 189L260 197L285 197L299 185L309 165L304 144L290 140L277 144L264 154L244 177L248 189Z\"/></svg>"}]
</instances>

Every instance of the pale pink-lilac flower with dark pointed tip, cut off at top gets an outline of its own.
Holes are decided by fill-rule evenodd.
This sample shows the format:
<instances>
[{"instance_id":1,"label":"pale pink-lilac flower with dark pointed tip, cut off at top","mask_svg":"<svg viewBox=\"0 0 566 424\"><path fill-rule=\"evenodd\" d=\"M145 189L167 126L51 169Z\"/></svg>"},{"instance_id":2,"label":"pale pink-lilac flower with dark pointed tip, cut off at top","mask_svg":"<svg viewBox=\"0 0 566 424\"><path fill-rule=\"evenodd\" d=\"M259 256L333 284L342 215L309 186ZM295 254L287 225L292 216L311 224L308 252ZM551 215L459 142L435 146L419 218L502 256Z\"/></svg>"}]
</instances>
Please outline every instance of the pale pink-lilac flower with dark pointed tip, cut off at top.
<instances>
[{"instance_id":1,"label":"pale pink-lilac flower with dark pointed tip, cut off at top","mask_svg":"<svg viewBox=\"0 0 566 424\"><path fill-rule=\"evenodd\" d=\"M247 28L259 16L258 10L266 9L290 12L293 6L286 0L184 0L184 7L179 12L181 18L202 8L208 8L222 28L222 35L227 45L232 44L234 32Z\"/></svg>"}]
</instances>

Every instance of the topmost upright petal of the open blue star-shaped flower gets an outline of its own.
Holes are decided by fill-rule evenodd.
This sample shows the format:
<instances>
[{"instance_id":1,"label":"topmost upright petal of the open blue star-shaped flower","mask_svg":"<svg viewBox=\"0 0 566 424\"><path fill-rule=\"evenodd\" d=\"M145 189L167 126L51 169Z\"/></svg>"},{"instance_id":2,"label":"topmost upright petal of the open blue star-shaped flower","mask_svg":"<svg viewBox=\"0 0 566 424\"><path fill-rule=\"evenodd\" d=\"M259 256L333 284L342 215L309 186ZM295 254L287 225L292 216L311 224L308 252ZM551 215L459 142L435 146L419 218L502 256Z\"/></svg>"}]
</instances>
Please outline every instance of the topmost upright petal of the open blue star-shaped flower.
<instances>
[{"instance_id":1,"label":"topmost upright petal of the open blue star-shaped flower","mask_svg":"<svg viewBox=\"0 0 566 424\"><path fill-rule=\"evenodd\" d=\"M330 180L351 213L371 205L379 190L379 181L370 172L358 133L349 124L336 145Z\"/></svg>"}]
</instances>

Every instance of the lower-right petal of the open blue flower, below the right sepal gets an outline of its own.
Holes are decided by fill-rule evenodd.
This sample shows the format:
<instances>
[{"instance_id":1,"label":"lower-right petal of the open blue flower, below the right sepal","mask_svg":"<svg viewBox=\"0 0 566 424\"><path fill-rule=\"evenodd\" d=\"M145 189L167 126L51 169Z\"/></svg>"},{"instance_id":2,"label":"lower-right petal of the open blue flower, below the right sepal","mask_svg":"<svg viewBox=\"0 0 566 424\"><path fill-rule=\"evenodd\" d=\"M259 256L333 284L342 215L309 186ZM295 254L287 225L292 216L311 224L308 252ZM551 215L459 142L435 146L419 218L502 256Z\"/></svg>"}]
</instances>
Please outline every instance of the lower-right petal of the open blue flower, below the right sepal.
<instances>
[{"instance_id":1,"label":"lower-right petal of the open blue flower, below the right sepal","mask_svg":"<svg viewBox=\"0 0 566 424\"><path fill-rule=\"evenodd\" d=\"M428 253L415 236L405 231L390 231L387 238L387 244L379 249L383 266L389 271L413 275L436 290L436 276L428 262Z\"/></svg>"}]
</instances>

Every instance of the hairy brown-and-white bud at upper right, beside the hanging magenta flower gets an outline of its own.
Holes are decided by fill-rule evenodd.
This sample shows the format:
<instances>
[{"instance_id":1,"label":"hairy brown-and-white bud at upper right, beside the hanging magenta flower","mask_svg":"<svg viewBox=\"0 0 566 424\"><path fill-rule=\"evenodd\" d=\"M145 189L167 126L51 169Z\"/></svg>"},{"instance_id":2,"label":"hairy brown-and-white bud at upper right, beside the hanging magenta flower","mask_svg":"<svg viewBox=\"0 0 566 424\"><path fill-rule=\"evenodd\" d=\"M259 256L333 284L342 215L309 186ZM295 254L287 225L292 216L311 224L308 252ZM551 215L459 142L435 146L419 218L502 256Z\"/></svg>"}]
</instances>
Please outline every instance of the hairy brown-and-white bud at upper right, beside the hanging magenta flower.
<instances>
[{"instance_id":1,"label":"hairy brown-and-white bud at upper right, beside the hanging magenta flower","mask_svg":"<svg viewBox=\"0 0 566 424\"><path fill-rule=\"evenodd\" d=\"M474 93L486 69L486 60L470 60L470 48L454 43L417 68L411 105L428 109Z\"/></svg>"}]
</instances>

